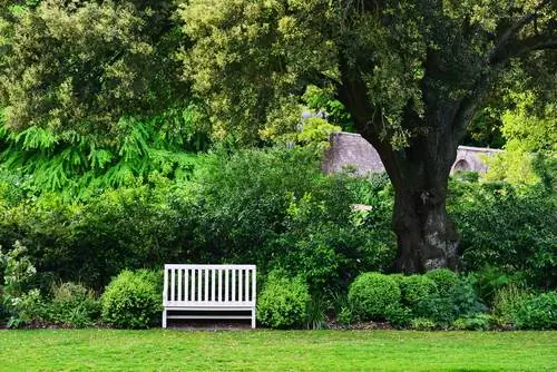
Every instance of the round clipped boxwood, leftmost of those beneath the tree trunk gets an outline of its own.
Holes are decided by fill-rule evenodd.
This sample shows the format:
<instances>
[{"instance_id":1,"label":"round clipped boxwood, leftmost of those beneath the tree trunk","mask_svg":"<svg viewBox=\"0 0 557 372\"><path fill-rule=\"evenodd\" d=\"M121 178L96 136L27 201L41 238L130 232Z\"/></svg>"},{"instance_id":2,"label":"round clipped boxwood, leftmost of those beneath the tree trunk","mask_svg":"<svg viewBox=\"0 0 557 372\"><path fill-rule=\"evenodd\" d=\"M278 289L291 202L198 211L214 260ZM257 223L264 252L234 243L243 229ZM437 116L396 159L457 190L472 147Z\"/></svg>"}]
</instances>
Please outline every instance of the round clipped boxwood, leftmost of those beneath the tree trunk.
<instances>
[{"instance_id":1,"label":"round clipped boxwood, leftmost of those beneath the tree trunk","mask_svg":"<svg viewBox=\"0 0 557 372\"><path fill-rule=\"evenodd\" d=\"M349 303L361 321L385 320L400 298L397 280L380 273L361 274L349 290Z\"/></svg>"}]
</instances>

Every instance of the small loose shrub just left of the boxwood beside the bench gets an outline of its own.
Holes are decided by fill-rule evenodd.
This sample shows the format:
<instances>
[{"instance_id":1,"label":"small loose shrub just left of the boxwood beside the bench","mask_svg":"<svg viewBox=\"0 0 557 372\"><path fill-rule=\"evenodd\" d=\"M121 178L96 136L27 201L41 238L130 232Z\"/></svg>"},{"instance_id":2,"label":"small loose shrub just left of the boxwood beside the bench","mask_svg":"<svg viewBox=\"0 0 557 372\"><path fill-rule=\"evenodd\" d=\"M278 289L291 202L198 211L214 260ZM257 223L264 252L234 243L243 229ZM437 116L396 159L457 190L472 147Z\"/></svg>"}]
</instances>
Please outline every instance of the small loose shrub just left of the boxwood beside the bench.
<instances>
[{"instance_id":1,"label":"small loose shrub just left of the boxwood beside the bench","mask_svg":"<svg viewBox=\"0 0 557 372\"><path fill-rule=\"evenodd\" d=\"M70 282L52 286L52 298L46 310L47 321L81 329L94 325L99 315L100 303L92 291Z\"/></svg>"}]
</instances>

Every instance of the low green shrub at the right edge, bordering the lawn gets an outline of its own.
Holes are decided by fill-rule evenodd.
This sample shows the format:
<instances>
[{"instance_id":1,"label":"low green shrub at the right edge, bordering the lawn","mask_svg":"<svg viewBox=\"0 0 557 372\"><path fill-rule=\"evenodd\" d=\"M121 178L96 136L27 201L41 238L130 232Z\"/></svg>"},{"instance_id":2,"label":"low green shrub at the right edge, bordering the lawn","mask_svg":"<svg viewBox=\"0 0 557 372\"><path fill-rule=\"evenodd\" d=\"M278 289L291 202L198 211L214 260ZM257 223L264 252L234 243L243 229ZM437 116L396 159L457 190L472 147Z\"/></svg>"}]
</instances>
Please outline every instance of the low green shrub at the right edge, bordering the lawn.
<instances>
[{"instance_id":1,"label":"low green shrub at the right edge, bordering the lawn","mask_svg":"<svg viewBox=\"0 0 557 372\"><path fill-rule=\"evenodd\" d=\"M524 301L515 312L515 322L520 330L556 330L557 292L541 293Z\"/></svg>"}]
</instances>

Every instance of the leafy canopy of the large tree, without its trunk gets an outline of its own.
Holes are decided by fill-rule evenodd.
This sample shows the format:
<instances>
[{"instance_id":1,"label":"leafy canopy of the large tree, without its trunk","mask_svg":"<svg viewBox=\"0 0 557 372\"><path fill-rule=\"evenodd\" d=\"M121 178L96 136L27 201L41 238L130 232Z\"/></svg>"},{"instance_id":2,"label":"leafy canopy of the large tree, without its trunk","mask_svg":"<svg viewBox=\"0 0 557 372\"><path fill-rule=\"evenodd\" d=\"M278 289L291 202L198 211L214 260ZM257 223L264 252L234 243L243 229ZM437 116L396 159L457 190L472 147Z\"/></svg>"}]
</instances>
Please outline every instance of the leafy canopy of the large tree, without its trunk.
<instances>
[{"instance_id":1,"label":"leafy canopy of the large tree, without its trunk","mask_svg":"<svg viewBox=\"0 0 557 372\"><path fill-rule=\"evenodd\" d=\"M183 60L228 126L264 125L312 81L352 104L359 131L402 148L442 104L461 137L510 58L554 46L555 12L550 1L194 0L180 11L194 41Z\"/></svg>"}]
</instances>

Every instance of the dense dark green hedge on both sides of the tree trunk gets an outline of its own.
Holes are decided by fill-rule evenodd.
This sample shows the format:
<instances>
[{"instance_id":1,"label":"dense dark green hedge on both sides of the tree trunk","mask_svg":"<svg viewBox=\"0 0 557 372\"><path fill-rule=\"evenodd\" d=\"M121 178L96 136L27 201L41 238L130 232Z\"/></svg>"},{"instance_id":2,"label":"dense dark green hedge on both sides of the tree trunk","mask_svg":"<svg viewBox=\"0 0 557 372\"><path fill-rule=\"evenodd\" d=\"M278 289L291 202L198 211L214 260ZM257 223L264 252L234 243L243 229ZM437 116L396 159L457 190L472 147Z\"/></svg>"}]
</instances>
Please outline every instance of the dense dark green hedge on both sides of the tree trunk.
<instances>
[{"instance_id":1,"label":"dense dark green hedge on both sides of the tree trunk","mask_svg":"<svg viewBox=\"0 0 557 372\"><path fill-rule=\"evenodd\" d=\"M248 262L263 274L278 267L302 275L312 295L345 293L360 273L391 265L392 189L384 175L326 176L315 154L299 148L217 151L196 164L187 182L152 176L81 200L0 172L0 245L27 247L43 290L72 281L100 291L125 268L167 262ZM355 204L371 209L354 211ZM556 205L543 187L452 180L449 211L461 234L462 268L495 267L555 287ZM490 281L476 283L487 302L497 286Z\"/></svg>"}]
</instances>

